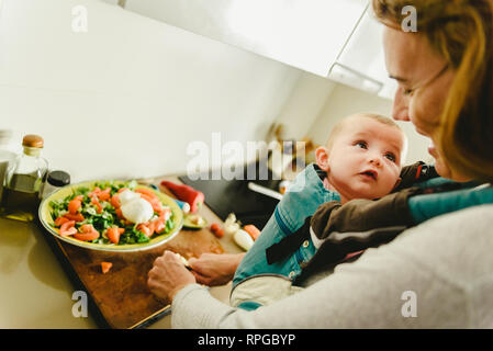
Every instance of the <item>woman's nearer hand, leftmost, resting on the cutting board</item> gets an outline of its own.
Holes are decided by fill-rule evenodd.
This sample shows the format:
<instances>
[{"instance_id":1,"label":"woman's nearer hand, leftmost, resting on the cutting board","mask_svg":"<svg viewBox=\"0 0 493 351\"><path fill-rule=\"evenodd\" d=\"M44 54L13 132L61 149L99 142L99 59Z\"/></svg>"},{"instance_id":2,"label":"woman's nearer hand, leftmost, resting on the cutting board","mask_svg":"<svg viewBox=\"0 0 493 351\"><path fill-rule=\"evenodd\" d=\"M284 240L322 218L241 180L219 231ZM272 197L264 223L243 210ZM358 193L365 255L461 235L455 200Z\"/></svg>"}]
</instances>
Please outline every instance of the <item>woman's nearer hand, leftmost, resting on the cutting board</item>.
<instances>
[{"instance_id":1,"label":"woman's nearer hand, leftmost, resting on the cutting board","mask_svg":"<svg viewBox=\"0 0 493 351\"><path fill-rule=\"evenodd\" d=\"M193 274L171 251L165 251L154 261L148 273L147 285L159 299L172 302L175 295L184 286L195 283Z\"/></svg>"}]
</instances>

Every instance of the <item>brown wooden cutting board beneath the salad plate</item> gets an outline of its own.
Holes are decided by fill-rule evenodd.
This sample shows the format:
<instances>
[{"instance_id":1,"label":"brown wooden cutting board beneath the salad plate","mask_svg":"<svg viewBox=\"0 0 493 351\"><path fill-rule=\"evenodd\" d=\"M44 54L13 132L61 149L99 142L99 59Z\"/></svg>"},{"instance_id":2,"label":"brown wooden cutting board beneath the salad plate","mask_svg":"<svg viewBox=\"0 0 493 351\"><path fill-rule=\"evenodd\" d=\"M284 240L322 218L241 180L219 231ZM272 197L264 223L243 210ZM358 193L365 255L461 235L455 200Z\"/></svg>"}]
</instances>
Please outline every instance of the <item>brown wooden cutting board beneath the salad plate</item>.
<instances>
[{"instance_id":1,"label":"brown wooden cutting board beneath the salad plate","mask_svg":"<svg viewBox=\"0 0 493 351\"><path fill-rule=\"evenodd\" d=\"M160 186L160 190L172 196L167 189ZM209 223L221 223L206 206L199 214ZM170 313L169 302L159 302L147 287L147 273L165 250L178 252L186 259L204 252L225 252L208 228L182 229L170 241L138 252L96 251L58 240L46 230L45 234L76 288L87 292L90 313L103 328L143 328ZM113 263L105 274L101 271L103 261Z\"/></svg>"}]
</instances>

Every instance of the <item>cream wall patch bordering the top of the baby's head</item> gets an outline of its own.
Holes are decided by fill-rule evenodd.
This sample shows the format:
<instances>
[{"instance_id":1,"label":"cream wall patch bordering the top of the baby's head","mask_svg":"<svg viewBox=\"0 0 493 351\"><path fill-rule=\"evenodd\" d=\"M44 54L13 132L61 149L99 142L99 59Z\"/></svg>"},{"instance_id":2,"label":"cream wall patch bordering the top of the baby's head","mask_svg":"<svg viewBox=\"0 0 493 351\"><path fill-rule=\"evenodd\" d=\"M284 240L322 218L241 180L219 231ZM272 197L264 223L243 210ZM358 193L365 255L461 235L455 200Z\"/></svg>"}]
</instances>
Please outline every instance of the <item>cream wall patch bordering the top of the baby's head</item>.
<instances>
[{"instance_id":1,"label":"cream wall patch bordering the top of the baby's head","mask_svg":"<svg viewBox=\"0 0 493 351\"><path fill-rule=\"evenodd\" d=\"M392 101L373 94L337 84L325 101L325 105L309 131L307 135L318 145L324 145L334 125L341 118L358 112L373 112L392 115ZM421 136L410 122L399 122L408 138L406 163L417 160L433 162L427 148L429 139Z\"/></svg>"}]
</instances>

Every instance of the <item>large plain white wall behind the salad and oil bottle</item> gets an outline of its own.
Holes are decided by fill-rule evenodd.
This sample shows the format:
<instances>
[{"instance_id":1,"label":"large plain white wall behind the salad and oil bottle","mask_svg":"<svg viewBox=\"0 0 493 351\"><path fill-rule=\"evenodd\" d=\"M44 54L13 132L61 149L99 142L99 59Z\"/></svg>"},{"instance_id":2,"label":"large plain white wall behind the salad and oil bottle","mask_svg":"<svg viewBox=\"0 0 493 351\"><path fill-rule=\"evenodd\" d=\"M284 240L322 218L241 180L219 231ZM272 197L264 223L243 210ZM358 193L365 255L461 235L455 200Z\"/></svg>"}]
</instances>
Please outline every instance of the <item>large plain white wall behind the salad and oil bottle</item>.
<instances>
[{"instance_id":1,"label":"large plain white wall behind the salad and oil bottle","mask_svg":"<svg viewBox=\"0 0 493 351\"><path fill-rule=\"evenodd\" d=\"M183 173L213 132L262 139L301 75L104 2L3 0L0 128L42 135L72 181Z\"/></svg>"}]
</instances>

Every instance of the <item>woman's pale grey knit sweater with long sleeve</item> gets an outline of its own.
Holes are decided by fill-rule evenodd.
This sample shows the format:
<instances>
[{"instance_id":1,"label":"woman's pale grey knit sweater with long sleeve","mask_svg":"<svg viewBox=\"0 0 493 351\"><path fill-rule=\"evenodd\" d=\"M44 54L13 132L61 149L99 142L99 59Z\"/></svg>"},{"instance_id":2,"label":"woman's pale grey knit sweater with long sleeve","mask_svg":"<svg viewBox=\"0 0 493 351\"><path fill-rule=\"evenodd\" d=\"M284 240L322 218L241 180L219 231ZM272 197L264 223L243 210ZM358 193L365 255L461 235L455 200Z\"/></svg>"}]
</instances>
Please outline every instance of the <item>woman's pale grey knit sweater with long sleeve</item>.
<instances>
[{"instance_id":1,"label":"woman's pale grey knit sweater with long sleeve","mask_svg":"<svg viewBox=\"0 0 493 351\"><path fill-rule=\"evenodd\" d=\"M175 297L173 328L492 328L493 205L430 219L304 291L254 312L198 284Z\"/></svg>"}]
</instances>

